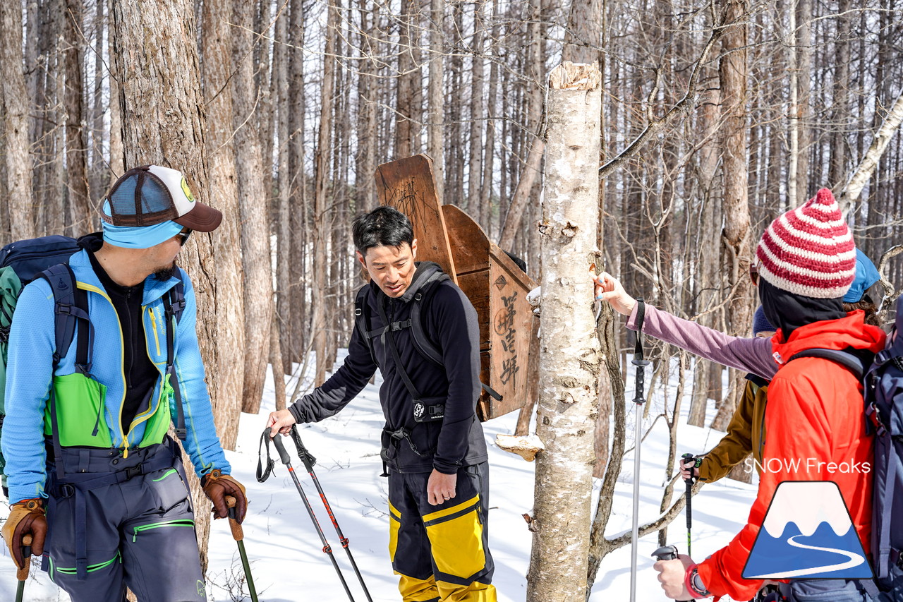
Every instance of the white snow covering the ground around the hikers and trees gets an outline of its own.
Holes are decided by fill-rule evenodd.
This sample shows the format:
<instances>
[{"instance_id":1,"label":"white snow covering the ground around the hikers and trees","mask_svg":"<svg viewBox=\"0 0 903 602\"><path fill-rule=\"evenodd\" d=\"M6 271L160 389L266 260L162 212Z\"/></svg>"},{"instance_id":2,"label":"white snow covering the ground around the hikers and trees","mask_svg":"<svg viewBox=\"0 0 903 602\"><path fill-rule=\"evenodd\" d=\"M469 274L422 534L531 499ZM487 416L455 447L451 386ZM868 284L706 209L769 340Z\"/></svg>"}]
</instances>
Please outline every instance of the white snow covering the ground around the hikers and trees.
<instances>
[{"instance_id":1,"label":"white snow covering the ground around the hikers and trees","mask_svg":"<svg viewBox=\"0 0 903 602\"><path fill-rule=\"evenodd\" d=\"M341 358L340 358L341 362ZM688 383L692 371L687 373ZM648 381L648 379L647 379ZM386 520L386 479L380 478L379 431L383 425L377 398L377 385L368 386L357 400L351 402L338 416L300 428L305 445L317 457L316 474L330 501L342 531L350 540L350 549L358 563L370 594L375 602L398 600L397 578L388 561L388 531ZM628 379L632 386L632 377ZM675 379L669 382L668 393L673 397ZM293 390L290 383L289 390ZM690 389L687 385L688 394ZM628 390L628 400L632 399ZM661 411L664 393L656 396L650 409L655 417ZM628 442L633 447L633 404L628 408ZM684 419L689 398L684 399ZM242 414L237 449L227 452L233 475L247 486L250 500L244 523L245 546L251 561L257 594L267 602L301 602L318 600L332 602L346 599L329 559L321 551L319 538L304 510L300 495L284 465L278 462L275 475L264 484L257 483L257 446L265 418L275 408L273 380L267 377L265 400L257 416ZM710 417L711 418L711 417ZM519 602L526 597L526 569L530 556L531 534L526 530L523 513L530 512L533 503L534 465L495 447L498 433L513 433L517 414L491 420L484 424L489 443L491 466L491 494L489 510L490 548L496 562L494 583L498 599ZM646 427L651 425L648 419ZM701 452L712 447L721 436L708 428L694 428L682 421L679 428L678 454ZM290 453L293 446L285 440ZM665 482L667 460L667 430L663 420L642 447L642 478L640 484L640 521L658 514L661 491ZM357 579L350 569L348 557L341 549L338 537L323 511L319 496L304 472L303 464L293 455L293 466L303 487L320 517L327 540L333 546L336 559L345 572L352 594L358 602L366 600ZM625 457L613 505L608 534L630 529L631 495L633 487L633 456ZM598 490L599 484L597 484ZM677 494L680 494L679 485ZM706 555L727 544L740 530L755 497L755 486L734 481L706 485L694 497L694 558ZM8 512L0 504L0 518ZM676 543L684 552L686 532L684 516L678 517L668 531L668 541ZM656 549L656 534L642 538L638 553L638 600L654 602L666 600L652 569L650 554ZM225 521L214 522L209 541L208 595L209 600L250 599L243 588L244 572ZM15 570L5 546L0 558L0 600L15 597ZM592 588L591 601L626 600L630 588L630 547L616 550L602 563L599 578ZM243 597L244 596L244 597ZM26 600L67 601L70 598L54 586L45 573L33 566L32 577L25 584ZM153 602L153 601L151 601Z\"/></svg>"}]
</instances>

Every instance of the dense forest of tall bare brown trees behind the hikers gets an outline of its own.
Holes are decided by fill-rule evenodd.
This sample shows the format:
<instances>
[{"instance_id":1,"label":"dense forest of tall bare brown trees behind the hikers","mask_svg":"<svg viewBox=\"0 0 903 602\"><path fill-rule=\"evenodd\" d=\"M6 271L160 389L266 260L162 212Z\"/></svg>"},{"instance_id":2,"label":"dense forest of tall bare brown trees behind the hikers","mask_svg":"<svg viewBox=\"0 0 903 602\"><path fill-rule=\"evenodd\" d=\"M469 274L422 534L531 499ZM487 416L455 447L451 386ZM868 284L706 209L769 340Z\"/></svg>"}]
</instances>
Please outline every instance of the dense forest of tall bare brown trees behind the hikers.
<instances>
[{"instance_id":1,"label":"dense forest of tall bare brown trees behind the hikers","mask_svg":"<svg viewBox=\"0 0 903 602\"><path fill-rule=\"evenodd\" d=\"M0 17L0 241L99 230L98 202L135 165L182 170L223 213L180 265L228 449L241 412L261 409L268 365L284 408L347 345L362 283L350 221L378 204L377 165L429 155L442 203L543 281L544 185L560 175L549 76L564 61L600 71L598 105L573 109L598 108L600 124L587 249L628 292L749 336L756 241L823 187L880 269L881 308L903 288L898 0L5 0ZM629 544L605 531L629 451L635 339L622 322L602 307L592 325L601 495L572 567L582 578L560 575L574 588L563 597L532 581L532 602L589 597L602 559ZM743 375L647 345L648 396L664 403L647 404L646 424L661 413L673 476L684 382L687 422L723 430ZM312 366L312 381L299 378ZM517 435L533 429L536 402ZM665 484L644 534L684 507L681 484ZM198 522L200 541L209 528ZM548 552L534 545L538 574Z\"/></svg>"}]
</instances>

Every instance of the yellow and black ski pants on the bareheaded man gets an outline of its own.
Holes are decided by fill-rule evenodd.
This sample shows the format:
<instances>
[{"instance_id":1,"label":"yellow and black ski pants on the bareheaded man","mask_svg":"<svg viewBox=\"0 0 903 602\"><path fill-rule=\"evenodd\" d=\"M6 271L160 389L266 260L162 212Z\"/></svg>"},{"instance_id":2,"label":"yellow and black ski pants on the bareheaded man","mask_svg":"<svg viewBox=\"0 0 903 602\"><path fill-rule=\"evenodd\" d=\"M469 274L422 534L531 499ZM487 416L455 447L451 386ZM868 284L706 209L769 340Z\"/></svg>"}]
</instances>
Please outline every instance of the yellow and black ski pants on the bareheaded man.
<instances>
[{"instance_id":1,"label":"yellow and black ski pants on the bareheaded man","mask_svg":"<svg viewBox=\"0 0 903 602\"><path fill-rule=\"evenodd\" d=\"M389 557L403 602L496 602L487 507L489 463L458 471L455 496L427 502L429 473L389 471Z\"/></svg>"}]
</instances>

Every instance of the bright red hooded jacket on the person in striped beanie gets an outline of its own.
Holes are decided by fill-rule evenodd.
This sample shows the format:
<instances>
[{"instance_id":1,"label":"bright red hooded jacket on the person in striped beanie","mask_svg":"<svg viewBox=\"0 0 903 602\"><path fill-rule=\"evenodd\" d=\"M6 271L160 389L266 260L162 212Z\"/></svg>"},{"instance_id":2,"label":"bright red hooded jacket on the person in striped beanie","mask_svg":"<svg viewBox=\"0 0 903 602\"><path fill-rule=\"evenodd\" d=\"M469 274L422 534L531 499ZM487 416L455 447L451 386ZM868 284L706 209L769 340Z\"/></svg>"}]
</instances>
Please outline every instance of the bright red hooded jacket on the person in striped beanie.
<instances>
[{"instance_id":1,"label":"bright red hooded jacket on the person in striped beanie","mask_svg":"<svg viewBox=\"0 0 903 602\"><path fill-rule=\"evenodd\" d=\"M872 440L865 431L861 382L840 364L823 358L804 357L784 363L795 353L813 348L852 347L878 353L884 348L885 335L880 328L866 325L863 315L862 311L854 311L838 320L802 326L787 342L779 330L772 338L775 359L782 365L768 388L765 412L768 436L762 456L799 458L802 462L796 472L763 471L747 525L727 547L699 564L703 584L716 597L727 595L735 600L749 600L762 586L762 581L744 579L740 574L768 504L783 481L836 483L863 550L870 550L872 475L864 469L842 473L836 466L832 471L827 464L855 462L859 467L871 467ZM816 461L807 462L808 458Z\"/></svg>"}]
</instances>

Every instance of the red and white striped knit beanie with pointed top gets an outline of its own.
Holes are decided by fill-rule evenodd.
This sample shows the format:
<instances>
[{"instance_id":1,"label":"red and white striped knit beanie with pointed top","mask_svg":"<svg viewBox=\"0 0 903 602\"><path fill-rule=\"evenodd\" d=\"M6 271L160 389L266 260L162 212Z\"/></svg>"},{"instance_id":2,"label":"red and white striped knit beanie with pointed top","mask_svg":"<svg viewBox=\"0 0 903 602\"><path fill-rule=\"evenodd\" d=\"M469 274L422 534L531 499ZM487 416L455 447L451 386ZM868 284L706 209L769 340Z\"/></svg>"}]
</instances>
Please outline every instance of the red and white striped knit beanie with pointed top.
<instances>
[{"instance_id":1,"label":"red and white striped knit beanie with pointed top","mask_svg":"<svg viewBox=\"0 0 903 602\"><path fill-rule=\"evenodd\" d=\"M817 299L843 296L856 275L856 245L827 188L772 221L756 258L759 276L769 284Z\"/></svg>"}]
</instances>

